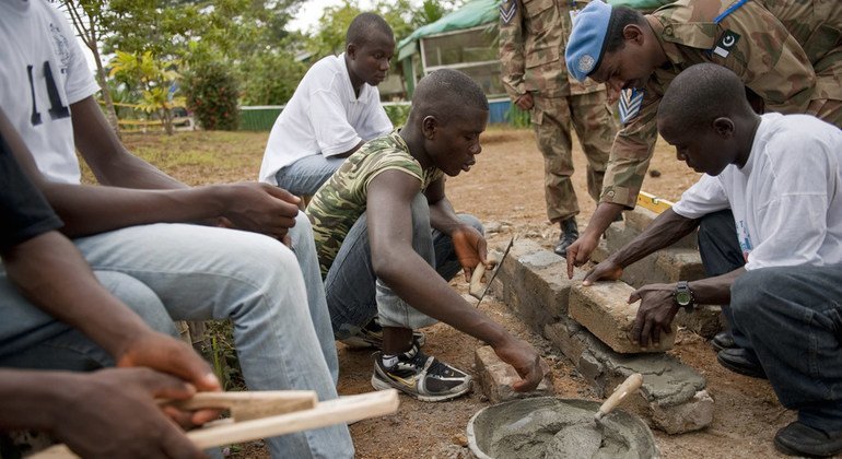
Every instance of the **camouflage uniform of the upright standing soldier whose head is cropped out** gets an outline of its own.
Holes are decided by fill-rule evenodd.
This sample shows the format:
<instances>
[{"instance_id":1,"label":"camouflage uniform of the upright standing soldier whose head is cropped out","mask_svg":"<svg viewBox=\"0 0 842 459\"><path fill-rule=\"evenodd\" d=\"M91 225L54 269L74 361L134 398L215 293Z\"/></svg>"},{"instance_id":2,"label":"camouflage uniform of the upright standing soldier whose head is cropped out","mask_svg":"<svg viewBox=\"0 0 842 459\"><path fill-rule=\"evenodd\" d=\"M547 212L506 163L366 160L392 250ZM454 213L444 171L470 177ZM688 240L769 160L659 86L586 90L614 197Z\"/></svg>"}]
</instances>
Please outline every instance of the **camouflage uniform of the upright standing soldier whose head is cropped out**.
<instances>
[{"instance_id":1,"label":"camouflage uniform of the upright standing soldier whose head is cropped out","mask_svg":"<svg viewBox=\"0 0 842 459\"><path fill-rule=\"evenodd\" d=\"M580 4L578 7L584 7ZM514 102L530 93L531 120L543 154L547 216L559 222L578 213L573 184L570 125L587 156L587 185L599 198L617 123L604 85L568 74L564 46L571 31L568 0L504 0L500 5L503 85Z\"/></svg>"}]
</instances>

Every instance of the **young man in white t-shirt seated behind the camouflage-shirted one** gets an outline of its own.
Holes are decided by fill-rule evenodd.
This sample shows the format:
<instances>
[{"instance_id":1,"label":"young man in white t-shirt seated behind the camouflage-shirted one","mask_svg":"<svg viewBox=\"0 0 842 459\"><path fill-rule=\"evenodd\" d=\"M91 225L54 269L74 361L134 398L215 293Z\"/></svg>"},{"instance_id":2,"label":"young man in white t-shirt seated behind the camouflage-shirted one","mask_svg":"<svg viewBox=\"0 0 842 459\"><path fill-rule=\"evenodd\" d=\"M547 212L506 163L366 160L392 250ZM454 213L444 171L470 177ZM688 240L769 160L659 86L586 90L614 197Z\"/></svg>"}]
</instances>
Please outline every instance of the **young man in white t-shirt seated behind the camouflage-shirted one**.
<instances>
[{"instance_id":1,"label":"young man in white t-shirt seated behind the camouflage-shirted one","mask_svg":"<svg viewBox=\"0 0 842 459\"><path fill-rule=\"evenodd\" d=\"M394 52L395 37L383 17L354 17L346 51L313 64L274 121L259 180L313 196L365 141L391 131L377 85Z\"/></svg>"}]
</instances>

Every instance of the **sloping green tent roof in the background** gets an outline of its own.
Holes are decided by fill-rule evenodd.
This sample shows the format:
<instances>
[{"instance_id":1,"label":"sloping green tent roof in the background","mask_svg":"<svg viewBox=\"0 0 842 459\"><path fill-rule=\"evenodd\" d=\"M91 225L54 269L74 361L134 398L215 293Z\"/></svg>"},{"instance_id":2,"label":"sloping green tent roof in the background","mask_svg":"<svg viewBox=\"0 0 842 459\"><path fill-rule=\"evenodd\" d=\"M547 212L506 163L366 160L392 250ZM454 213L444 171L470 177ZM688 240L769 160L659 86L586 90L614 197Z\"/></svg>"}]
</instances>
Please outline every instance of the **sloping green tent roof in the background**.
<instances>
[{"instance_id":1,"label":"sloping green tent roof in the background","mask_svg":"<svg viewBox=\"0 0 842 459\"><path fill-rule=\"evenodd\" d=\"M471 28L500 20L498 5L500 0L471 0L438 21L416 28L411 35L398 44L398 60L404 60L418 50L419 39L443 32Z\"/></svg>"}]
</instances>

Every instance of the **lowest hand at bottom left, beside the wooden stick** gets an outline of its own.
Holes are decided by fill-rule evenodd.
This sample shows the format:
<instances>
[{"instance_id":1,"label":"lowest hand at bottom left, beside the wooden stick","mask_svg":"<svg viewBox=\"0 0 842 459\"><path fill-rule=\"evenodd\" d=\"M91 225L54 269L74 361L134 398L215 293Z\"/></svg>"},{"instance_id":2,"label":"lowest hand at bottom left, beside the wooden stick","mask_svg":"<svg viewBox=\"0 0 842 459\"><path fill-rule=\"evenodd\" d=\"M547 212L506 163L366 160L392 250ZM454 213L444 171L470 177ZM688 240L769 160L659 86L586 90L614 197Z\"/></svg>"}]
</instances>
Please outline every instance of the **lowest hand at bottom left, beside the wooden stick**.
<instances>
[{"instance_id":1,"label":"lowest hand at bottom left, beside the wooden stick","mask_svg":"<svg viewBox=\"0 0 842 459\"><path fill-rule=\"evenodd\" d=\"M155 399L188 399L189 384L149 368L72 374L66 403L55 405L50 433L81 457L201 458L204 454L159 408Z\"/></svg>"}]
</instances>

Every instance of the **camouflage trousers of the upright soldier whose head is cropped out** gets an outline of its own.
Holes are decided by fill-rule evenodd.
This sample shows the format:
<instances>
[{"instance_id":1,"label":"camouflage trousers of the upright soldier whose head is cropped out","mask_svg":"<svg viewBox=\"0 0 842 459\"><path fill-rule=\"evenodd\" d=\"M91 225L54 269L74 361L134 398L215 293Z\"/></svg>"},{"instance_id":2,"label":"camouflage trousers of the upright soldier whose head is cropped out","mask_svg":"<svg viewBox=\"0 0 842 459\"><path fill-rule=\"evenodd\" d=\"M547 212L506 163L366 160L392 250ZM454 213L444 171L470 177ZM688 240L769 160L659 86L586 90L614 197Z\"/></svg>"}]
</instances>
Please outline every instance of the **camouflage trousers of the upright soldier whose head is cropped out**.
<instances>
[{"instance_id":1,"label":"camouflage trousers of the upright soldier whose head is cropped out","mask_svg":"<svg viewBox=\"0 0 842 459\"><path fill-rule=\"evenodd\" d=\"M531 110L538 149L543 155L543 192L547 217L552 223L578 214L573 189L571 121L587 157L587 191L599 200L608 154L617 133L617 120L605 91L562 97L534 94Z\"/></svg>"}]
</instances>

